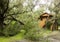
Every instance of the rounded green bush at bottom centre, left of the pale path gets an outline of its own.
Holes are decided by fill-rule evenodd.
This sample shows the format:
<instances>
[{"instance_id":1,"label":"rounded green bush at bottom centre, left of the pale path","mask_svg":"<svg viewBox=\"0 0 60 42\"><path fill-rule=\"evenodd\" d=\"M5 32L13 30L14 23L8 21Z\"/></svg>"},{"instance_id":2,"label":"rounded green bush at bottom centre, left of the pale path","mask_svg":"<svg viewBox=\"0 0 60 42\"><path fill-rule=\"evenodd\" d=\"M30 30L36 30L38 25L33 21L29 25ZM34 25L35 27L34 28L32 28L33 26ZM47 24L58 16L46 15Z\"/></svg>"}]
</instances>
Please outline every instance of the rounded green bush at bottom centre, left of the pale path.
<instances>
[{"instance_id":1,"label":"rounded green bush at bottom centre, left of the pale path","mask_svg":"<svg viewBox=\"0 0 60 42\"><path fill-rule=\"evenodd\" d=\"M37 40L39 40L40 38L42 38L40 28L32 28L32 29L30 29L30 30L26 33L25 38L26 38L26 39L33 40L33 41L35 41L35 40L37 41Z\"/></svg>"}]
</instances>

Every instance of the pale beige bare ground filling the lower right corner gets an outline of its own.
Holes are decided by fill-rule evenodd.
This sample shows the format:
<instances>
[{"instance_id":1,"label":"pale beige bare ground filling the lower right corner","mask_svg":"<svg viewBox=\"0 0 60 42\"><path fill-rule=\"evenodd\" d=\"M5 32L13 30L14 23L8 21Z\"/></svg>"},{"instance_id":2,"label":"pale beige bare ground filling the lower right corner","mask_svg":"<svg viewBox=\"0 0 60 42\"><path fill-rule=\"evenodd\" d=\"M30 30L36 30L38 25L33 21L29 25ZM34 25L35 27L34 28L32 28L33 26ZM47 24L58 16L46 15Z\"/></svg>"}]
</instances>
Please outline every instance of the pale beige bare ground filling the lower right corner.
<instances>
[{"instance_id":1,"label":"pale beige bare ground filling the lower right corner","mask_svg":"<svg viewBox=\"0 0 60 42\"><path fill-rule=\"evenodd\" d=\"M48 37L49 42L60 42L60 31L55 31L53 32L49 37Z\"/></svg>"}]
</instances>

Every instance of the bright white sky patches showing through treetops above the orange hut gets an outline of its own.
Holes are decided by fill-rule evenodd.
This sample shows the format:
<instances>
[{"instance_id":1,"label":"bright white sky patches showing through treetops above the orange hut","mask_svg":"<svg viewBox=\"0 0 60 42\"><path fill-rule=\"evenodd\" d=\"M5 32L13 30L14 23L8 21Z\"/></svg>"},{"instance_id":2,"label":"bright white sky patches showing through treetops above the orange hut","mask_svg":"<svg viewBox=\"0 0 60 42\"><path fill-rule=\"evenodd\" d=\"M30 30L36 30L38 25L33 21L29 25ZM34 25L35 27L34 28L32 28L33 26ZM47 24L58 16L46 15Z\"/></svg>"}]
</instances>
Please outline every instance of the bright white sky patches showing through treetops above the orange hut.
<instances>
[{"instance_id":1,"label":"bright white sky patches showing through treetops above the orange hut","mask_svg":"<svg viewBox=\"0 0 60 42\"><path fill-rule=\"evenodd\" d=\"M43 4L43 5L50 6L50 5L51 5L51 2L52 2L52 0L40 0L40 1L38 2L38 4ZM39 8L40 8L39 5L37 5L37 6L35 7L35 10L37 10L37 9L39 9ZM44 10L45 10L44 12L50 13L50 11L49 11L49 9L48 9L47 7L45 7Z\"/></svg>"}]
</instances>

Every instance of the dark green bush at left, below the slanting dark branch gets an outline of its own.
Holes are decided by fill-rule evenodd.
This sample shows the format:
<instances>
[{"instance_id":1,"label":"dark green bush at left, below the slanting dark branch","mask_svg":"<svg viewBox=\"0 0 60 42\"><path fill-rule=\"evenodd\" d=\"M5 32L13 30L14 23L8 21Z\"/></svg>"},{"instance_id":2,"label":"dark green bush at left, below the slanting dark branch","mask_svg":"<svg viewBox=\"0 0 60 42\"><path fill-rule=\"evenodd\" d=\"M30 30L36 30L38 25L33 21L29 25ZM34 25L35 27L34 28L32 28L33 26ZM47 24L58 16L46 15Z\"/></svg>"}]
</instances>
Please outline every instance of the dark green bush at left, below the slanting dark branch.
<instances>
[{"instance_id":1,"label":"dark green bush at left, below the slanting dark branch","mask_svg":"<svg viewBox=\"0 0 60 42\"><path fill-rule=\"evenodd\" d=\"M5 36L13 36L20 32L20 24L16 21L12 21L6 28L3 30Z\"/></svg>"}]
</instances>

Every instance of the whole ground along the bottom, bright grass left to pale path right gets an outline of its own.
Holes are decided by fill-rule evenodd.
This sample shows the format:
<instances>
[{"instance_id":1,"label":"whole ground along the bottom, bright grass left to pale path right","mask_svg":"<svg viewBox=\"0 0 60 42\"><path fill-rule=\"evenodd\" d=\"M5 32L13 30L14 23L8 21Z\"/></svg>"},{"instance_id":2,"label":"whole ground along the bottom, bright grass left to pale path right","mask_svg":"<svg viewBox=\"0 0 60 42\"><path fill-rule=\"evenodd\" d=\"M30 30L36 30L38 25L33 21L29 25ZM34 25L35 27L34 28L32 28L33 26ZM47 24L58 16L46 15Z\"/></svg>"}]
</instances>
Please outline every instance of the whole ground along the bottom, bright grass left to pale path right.
<instances>
[{"instance_id":1,"label":"whole ground along the bottom, bright grass left to pale path right","mask_svg":"<svg viewBox=\"0 0 60 42\"><path fill-rule=\"evenodd\" d=\"M22 39L23 34L17 34L13 37L0 37L0 42L60 42L60 31L52 31L48 35L44 36L44 39L40 41L31 41Z\"/></svg>"}]
</instances>

